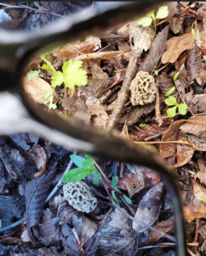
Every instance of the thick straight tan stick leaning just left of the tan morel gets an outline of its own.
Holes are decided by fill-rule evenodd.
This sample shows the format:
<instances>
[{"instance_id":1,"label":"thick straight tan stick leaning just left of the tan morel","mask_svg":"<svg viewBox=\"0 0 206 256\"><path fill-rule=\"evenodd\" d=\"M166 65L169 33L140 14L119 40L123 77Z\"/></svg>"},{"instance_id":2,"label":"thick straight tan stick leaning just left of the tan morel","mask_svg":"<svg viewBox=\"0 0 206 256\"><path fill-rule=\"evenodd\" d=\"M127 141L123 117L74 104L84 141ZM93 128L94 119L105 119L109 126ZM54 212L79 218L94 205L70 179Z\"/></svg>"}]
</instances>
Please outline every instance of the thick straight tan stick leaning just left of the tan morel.
<instances>
[{"instance_id":1,"label":"thick straight tan stick leaning just left of the tan morel","mask_svg":"<svg viewBox=\"0 0 206 256\"><path fill-rule=\"evenodd\" d=\"M137 73L136 58L131 57L127 72L123 79L123 85L117 97L117 102L112 111L111 119L109 120L108 125L106 126L107 131L111 131L117 123L117 118L123 112L123 107L125 103L129 100L129 86L134 79L135 74Z\"/></svg>"}]
</instances>

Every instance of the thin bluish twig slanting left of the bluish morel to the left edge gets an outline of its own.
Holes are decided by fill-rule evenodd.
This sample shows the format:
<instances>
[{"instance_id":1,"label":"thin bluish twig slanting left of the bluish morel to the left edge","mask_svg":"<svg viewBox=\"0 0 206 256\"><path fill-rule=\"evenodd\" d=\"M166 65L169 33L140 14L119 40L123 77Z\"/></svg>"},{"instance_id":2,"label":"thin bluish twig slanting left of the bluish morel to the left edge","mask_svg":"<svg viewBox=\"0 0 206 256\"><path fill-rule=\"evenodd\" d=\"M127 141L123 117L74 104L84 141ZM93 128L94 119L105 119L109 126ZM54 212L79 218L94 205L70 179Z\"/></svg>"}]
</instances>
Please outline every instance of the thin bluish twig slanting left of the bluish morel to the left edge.
<instances>
[{"instance_id":1,"label":"thin bluish twig slanting left of the bluish morel to the left edge","mask_svg":"<svg viewBox=\"0 0 206 256\"><path fill-rule=\"evenodd\" d=\"M73 152L73 154L77 154L77 150L75 150L75 151ZM73 161L70 160L69 165L66 167L66 171L64 172L63 176L66 174L66 172L69 172L69 171L70 171L70 169L71 169L71 167L72 167L72 164L73 164ZM48 197L47 197L45 203L48 202L48 201L52 198L52 196L53 196L53 195L56 193L56 191L59 189L61 183L62 183L62 182L61 182L61 178L60 178L59 183L57 183L57 184L55 185L54 189L53 189L53 190L51 191L51 193L48 195ZM10 230L10 229L12 229L12 228L18 226L19 224L21 224L21 223L24 222L24 221L26 221L26 218L21 218L20 220L14 222L13 224L10 224L10 225L8 225L8 226L6 226L6 227L1 228L1 229L0 229L0 232L3 232L3 231L5 231L5 230Z\"/></svg>"}]
</instances>

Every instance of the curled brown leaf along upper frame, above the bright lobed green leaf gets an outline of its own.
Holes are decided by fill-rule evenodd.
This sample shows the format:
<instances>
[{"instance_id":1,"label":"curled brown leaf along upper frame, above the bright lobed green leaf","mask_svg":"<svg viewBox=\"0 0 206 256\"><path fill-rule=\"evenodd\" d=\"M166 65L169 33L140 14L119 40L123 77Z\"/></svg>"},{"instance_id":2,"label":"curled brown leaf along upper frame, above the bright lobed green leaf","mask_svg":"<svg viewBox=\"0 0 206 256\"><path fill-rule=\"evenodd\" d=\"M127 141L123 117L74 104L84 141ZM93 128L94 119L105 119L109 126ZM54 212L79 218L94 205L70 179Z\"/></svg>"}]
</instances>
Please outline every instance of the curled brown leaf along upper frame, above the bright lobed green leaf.
<instances>
[{"instance_id":1,"label":"curled brown leaf along upper frame, above the bright lobed green leaf","mask_svg":"<svg viewBox=\"0 0 206 256\"><path fill-rule=\"evenodd\" d=\"M100 38L90 36L85 39L84 42L76 44L66 44L62 47L54 49L54 56L60 57L66 61L66 59L72 59L81 54L89 54L94 52L95 49L101 48Z\"/></svg>"}]
</instances>

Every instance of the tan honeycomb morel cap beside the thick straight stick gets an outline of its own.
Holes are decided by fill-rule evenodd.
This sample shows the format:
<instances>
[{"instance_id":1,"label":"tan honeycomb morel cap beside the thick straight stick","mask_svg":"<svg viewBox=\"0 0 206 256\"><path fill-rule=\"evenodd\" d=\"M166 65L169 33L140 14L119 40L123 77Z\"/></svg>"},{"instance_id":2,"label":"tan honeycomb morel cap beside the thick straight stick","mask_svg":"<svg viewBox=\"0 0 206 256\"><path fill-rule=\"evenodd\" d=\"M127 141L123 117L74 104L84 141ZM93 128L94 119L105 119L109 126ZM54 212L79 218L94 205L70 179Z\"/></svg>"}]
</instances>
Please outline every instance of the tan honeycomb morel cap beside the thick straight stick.
<instances>
[{"instance_id":1,"label":"tan honeycomb morel cap beside the thick straight stick","mask_svg":"<svg viewBox=\"0 0 206 256\"><path fill-rule=\"evenodd\" d=\"M140 71L136 74L129 89L131 90L130 100L133 106L153 102L157 91L153 77L148 72L144 71Z\"/></svg>"}]
</instances>

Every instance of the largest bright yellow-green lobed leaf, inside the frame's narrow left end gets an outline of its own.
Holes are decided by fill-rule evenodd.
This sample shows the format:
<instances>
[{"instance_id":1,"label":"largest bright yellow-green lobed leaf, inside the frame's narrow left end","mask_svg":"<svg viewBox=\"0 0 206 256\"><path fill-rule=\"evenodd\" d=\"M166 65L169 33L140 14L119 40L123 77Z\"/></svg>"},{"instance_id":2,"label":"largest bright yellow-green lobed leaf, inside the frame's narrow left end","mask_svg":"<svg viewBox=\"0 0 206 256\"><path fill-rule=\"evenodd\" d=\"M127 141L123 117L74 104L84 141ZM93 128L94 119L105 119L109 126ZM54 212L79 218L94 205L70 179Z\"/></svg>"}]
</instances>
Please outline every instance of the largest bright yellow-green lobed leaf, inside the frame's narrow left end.
<instances>
[{"instance_id":1,"label":"largest bright yellow-green lobed leaf, inside the frame's narrow left end","mask_svg":"<svg viewBox=\"0 0 206 256\"><path fill-rule=\"evenodd\" d=\"M83 61L78 60L70 60L64 63L62 71L66 87L73 89L75 85L83 86L88 83L87 72L80 68L82 64Z\"/></svg>"}]
</instances>

